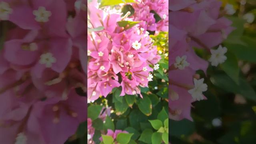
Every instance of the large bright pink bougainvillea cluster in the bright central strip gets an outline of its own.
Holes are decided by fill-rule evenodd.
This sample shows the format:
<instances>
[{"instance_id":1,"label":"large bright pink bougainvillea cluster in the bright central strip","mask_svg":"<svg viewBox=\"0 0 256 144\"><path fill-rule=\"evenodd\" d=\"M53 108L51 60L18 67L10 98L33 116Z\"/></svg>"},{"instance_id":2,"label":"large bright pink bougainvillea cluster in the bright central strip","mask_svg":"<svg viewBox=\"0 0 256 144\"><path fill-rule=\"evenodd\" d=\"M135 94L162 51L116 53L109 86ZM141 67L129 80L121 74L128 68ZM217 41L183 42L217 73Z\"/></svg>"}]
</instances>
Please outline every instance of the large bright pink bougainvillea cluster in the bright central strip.
<instances>
[{"instance_id":1,"label":"large bright pink bougainvillea cluster in the bright central strip","mask_svg":"<svg viewBox=\"0 0 256 144\"><path fill-rule=\"evenodd\" d=\"M88 15L89 28L104 27L104 30L89 32L87 38L88 102L99 96L106 97L119 86L122 86L121 96L142 96L140 86L148 86L153 78L150 65L158 67L160 60L152 39L139 26L120 27L118 22L127 20L128 14L121 17L121 14L101 10L96 0L88 4Z\"/></svg>"}]
</instances>

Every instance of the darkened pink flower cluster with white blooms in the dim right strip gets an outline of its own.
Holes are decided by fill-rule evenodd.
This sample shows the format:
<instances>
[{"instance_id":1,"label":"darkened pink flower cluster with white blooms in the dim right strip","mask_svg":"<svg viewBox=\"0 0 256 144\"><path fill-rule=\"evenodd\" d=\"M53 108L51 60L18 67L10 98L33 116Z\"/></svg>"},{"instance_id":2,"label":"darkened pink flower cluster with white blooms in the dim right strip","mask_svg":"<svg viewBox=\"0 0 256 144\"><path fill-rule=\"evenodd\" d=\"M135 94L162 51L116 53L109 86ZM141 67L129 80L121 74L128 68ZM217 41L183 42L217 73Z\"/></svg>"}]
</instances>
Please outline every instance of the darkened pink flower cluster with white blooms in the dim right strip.
<instances>
[{"instance_id":1,"label":"darkened pink flower cluster with white blooms in the dim right strip","mask_svg":"<svg viewBox=\"0 0 256 144\"><path fill-rule=\"evenodd\" d=\"M208 67L193 47L211 53L209 61L213 66L224 62L226 48L212 48L232 32L232 22L221 16L218 0L170 0L169 5L169 116L174 120L192 120L191 103L206 99L203 92L207 90L204 78L196 71L206 72Z\"/></svg>"}]
</instances>

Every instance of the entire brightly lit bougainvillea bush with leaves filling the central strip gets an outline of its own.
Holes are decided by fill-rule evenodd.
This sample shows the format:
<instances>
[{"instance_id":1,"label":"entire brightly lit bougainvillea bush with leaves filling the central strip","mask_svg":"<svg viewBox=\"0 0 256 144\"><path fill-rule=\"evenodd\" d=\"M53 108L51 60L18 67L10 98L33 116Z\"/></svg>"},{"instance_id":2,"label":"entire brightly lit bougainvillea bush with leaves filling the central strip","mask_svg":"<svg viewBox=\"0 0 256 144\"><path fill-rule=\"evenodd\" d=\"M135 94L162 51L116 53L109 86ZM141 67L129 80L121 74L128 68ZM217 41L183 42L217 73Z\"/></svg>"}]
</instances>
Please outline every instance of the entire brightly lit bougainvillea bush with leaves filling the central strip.
<instances>
[{"instance_id":1,"label":"entire brightly lit bougainvillea bush with leaves filling the central strip","mask_svg":"<svg viewBox=\"0 0 256 144\"><path fill-rule=\"evenodd\" d=\"M88 2L88 144L168 144L168 1Z\"/></svg>"}]
</instances>

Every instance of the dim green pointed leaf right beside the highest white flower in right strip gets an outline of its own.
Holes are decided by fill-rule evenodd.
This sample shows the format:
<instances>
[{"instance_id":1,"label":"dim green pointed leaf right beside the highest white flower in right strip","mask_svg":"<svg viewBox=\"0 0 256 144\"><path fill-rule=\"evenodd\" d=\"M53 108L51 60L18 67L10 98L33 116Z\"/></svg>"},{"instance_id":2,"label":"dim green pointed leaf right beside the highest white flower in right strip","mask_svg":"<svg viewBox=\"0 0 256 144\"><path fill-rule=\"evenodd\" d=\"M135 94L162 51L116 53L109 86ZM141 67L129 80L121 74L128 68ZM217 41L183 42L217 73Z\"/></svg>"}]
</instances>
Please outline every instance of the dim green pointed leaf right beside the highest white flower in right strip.
<instances>
[{"instance_id":1,"label":"dim green pointed leaf right beside the highest white flower in right strip","mask_svg":"<svg viewBox=\"0 0 256 144\"><path fill-rule=\"evenodd\" d=\"M238 60L236 56L228 51L226 53L227 60L223 64L220 65L220 67L232 78L236 84L239 84L239 67L238 67Z\"/></svg>"}]
</instances>

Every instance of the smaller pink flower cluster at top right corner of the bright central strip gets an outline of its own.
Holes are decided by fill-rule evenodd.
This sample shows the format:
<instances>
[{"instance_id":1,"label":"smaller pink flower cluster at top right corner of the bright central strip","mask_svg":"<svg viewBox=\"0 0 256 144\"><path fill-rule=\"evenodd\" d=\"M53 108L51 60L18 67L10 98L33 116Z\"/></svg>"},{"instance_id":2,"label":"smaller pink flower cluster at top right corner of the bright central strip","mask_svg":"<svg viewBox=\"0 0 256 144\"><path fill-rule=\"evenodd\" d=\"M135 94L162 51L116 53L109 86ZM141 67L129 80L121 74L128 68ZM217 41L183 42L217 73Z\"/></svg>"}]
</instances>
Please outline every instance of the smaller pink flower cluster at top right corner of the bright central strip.
<instances>
[{"instance_id":1,"label":"smaller pink flower cluster at top right corner of the bright central strip","mask_svg":"<svg viewBox=\"0 0 256 144\"><path fill-rule=\"evenodd\" d=\"M142 28L150 31L168 31L168 0L136 0L133 3L134 21L142 21ZM156 22L155 13L159 16Z\"/></svg>"}]
</instances>

